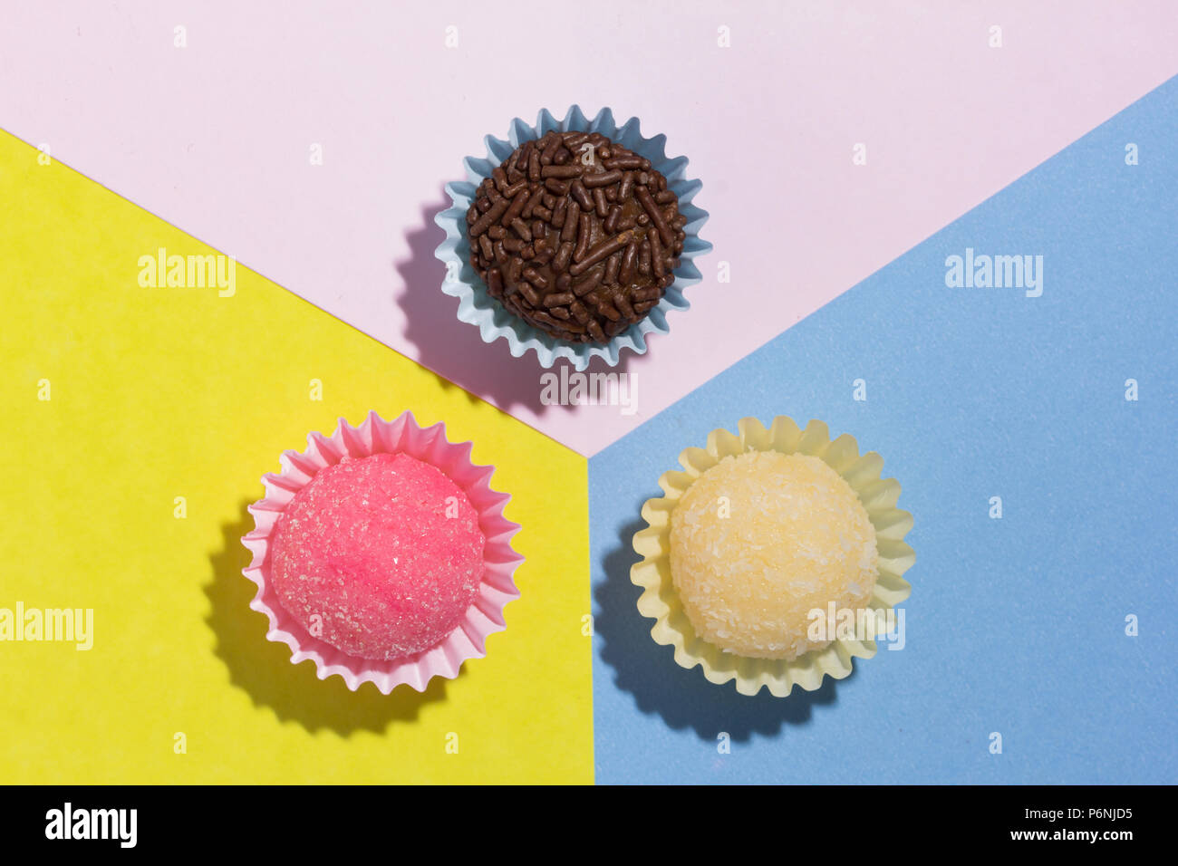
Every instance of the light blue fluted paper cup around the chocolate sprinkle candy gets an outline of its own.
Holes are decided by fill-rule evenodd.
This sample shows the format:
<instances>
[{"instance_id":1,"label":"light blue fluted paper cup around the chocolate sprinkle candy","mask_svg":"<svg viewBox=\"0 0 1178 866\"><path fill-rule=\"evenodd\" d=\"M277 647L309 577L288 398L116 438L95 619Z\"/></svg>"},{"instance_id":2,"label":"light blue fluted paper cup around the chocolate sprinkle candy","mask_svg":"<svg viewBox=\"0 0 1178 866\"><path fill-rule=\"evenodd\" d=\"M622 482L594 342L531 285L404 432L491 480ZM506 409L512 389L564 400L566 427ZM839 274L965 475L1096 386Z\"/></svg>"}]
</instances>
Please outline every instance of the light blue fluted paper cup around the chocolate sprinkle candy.
<instances>
[{"instance_id":1,"label":"light blue fluted paper cup around the chocolate sprinkle candy","mask_svg":"<svg viewBox=\"0 0 1178 866\"><path fill-rule=\"evenodd\" d=\"M604 345L593 343L565 343L543 331L532 328L523 319L505 310L490 296L487 285L470 264L470 238L466 234L466 211L475 199L478 185L491 176L491 171L521 144L535 140L542 135L560 130L561 132L600 132L602 135L618 143L623 147L650 160L651 166L667 178L667 186L679 197L679 212L687 218L683 232L683 252L680 266L675 269L675 282L667 289L659 305L650 310L646 318L630 325ZM686 310L689 304L683 297L683 290L701 280L700 270L693 259L709 252L712 244L702 240L700 229L708 219L707 211L691 204L695 193L703 186L699 180L687 178L687 157L667 157L666 135L644 138L638 130L638 119L630 118L622 126L614 123L609 108L602 108L593 120L585 118L580 106L569 108L563 120L557 120L547 110L541 110L536 125L529 126L519 118L511 121L507 140L487 135L487 158L466 157L463 164L466 179L461 183L446 184L445 191L452 205L435 217L435 222L445 230L446 238L438 245L435 256L445 262L446 277L442 291L458 298L458 319L478 326L485 343L507 339L515 357L535 351L542 366L552 366L557 358L568 359L577 370L589 366L593 358L604 358L615 366L622 352L627 349L643 355L647 351L648 333L668 333L667 313L671 310Z\"/></svg>"}]
</instances>

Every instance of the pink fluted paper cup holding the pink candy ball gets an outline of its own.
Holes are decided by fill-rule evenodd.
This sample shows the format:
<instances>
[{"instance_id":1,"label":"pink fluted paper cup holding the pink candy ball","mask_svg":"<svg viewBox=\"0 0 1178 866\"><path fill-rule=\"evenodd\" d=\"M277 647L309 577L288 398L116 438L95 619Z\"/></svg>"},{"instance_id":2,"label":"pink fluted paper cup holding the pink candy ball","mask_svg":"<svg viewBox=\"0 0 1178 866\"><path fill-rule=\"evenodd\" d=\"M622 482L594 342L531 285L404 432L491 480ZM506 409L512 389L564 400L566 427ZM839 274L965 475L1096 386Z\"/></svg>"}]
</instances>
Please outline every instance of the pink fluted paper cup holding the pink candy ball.
<instances>
[{"instance_id":1,"label":"pink fluted paper cup holding the pink candy ball","mask_svg":"<svg viewBox=\"0 0 1178 866\"><path fill-rule=\"evenodd\" d=\"M384 421L375 411L369 412L359 427L340 418L330 437L312 432L307 434L306 442L304 451L283 452L280 472L262 476L266 496L250 505L254 529L241 538L253 554L253 561L241 573L258 587L250 607L270 620L266 640L289 646L292 665L310 659L320 680L342 676L353 692L363 682L371 682L389 694L402 683L423 692L435 676L452 680L464 661L487 655L487 636L507 628L503 608L519 596L512 575L523 557L511 548L511 536L519 531L519 524L503 516L503 507L511 497L490 487L495 468L471 463L471 443L449 442L445 424L423 429L410 412L396 421ZM278 602L270 580L270 534L294 494L316 472L335 465L345 455L368 457L382 452L408 454L448 475L478 511L478 525L487 540L483 582L463 621L437 646L392 661L349 655L313 636Z\"/></svg>"}]
</instances>

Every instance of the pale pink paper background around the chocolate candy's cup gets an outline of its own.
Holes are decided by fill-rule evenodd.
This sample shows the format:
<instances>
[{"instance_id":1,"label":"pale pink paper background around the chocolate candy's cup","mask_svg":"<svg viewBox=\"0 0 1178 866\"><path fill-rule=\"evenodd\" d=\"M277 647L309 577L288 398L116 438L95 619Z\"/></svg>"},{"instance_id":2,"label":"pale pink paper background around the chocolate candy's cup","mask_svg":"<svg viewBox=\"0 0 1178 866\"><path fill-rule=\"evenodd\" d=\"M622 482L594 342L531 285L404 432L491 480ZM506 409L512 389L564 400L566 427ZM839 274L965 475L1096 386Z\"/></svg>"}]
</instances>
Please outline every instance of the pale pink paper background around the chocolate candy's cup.
<instances>
[{"instance_id":1,"label":"pale pink paper background around the chocolate candy's cup","mask_svg":"<svg viewBox=\"0 0 1178 866\"><path fill-rule=\"evenodd\" d=\"M1173 75L1176 44L1164 0L12 4L0 126L588 455ZM462 157L573 103L664 132L712 214L631 416L540 405L534 356L438 289Z\"/></svg>"}]
</instances>

